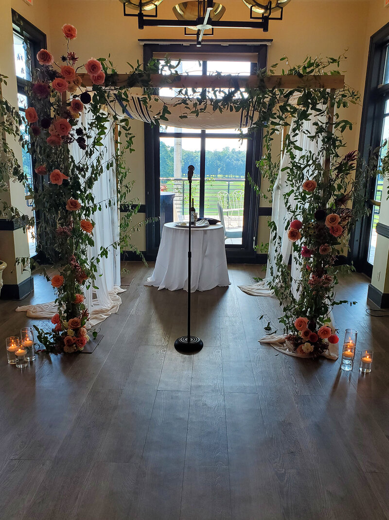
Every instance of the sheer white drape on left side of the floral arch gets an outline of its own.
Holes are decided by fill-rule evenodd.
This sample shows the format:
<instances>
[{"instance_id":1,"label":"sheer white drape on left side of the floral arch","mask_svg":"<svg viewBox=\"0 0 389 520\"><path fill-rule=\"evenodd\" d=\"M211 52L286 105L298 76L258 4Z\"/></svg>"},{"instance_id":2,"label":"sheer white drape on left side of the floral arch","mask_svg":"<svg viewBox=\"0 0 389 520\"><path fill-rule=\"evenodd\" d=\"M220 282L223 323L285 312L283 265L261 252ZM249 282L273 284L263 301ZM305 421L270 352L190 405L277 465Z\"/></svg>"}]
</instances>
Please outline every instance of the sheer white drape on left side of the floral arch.
<instances>
[{"instance_id":1,"label":"sheer white drape on left side of the floral arch","mask_svg":"<svg viewBox=\"0 0 389 520\"><path fill-rule=\"evenodd\" d=\"M83 114L83 123L88 125L90 116ZM103 138L103 147L99 152L103 154L103 162L113 157L115 152L115 143L112 131L107 128L107 133ZM99 152L96 152L96 157ZM71 145L71 153L75 160L81 161L84 157L82 151L77 144ZM92 161L96 159L92 158ZM88 173L86 173L86 176ZM108 248L119 239L119 220L118 206L116 203L116 174L115 168L108 170L103 168L103 173L93 185L93 194L96 203L101 203L101 211L97 211L93 215L95 226L93 228L94 245L88 247L88 259L96 257L100 254L102 247ZM113 203L108 204L111 200ZM98 273L95 280L95 286L92 285L86 289L86 305L89 310L89 325L93 327L97 323L105 320L110 314L116 313L121 304L119 293L124 292L120 288L120 250L109 247L107 258L102 257L98 264ZM38 305L23 305L16 309L24 311L31 318L51 318L57 312L54 302Z\"/></svg>"}]
</instances>

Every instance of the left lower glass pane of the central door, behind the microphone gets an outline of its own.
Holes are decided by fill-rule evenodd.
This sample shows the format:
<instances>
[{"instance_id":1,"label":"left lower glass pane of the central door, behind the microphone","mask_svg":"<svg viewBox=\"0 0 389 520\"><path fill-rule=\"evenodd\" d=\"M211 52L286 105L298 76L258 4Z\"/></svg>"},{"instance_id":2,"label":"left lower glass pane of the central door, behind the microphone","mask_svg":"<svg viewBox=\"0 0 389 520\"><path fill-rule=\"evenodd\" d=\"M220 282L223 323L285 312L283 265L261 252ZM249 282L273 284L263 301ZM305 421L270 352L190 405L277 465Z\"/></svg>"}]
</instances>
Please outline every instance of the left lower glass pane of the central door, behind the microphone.
<instances>
[{"instance_id":1,"label":"left lower glass pane of the central door, behind the microphone","mask_svg":"<svg viewBox=\"0 0 389 520\"><path fill-rule=\"evenodd\" d=\"M200 138L160 138L161 229L166 222L189 219L188 166L195 166L192 197L199 213Z\"/></svg>"}]
</instances>

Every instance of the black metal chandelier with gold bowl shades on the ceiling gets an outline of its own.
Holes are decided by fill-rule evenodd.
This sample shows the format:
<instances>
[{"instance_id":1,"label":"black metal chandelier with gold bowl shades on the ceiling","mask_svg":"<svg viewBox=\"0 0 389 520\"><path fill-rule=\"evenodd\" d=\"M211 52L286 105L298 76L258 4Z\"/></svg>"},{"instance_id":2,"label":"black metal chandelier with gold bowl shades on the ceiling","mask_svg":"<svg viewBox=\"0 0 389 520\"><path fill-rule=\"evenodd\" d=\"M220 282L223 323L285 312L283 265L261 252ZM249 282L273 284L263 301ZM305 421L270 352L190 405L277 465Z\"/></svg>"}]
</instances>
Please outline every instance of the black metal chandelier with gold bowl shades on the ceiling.
<instances>
[{"instance_id":1,"label":"black metal chandelier with gold bowl shades on the ceiling","mask_svg":"<svg viewBox=\"0 0 389 520\"><path fill-rule=\"evenodd\" d=\"M211 31L210 35L213 35L215 28L262 29L262 31L267 32L269 20L282 20L283 8L290 2L290 0L269 0L268 3L260 3L257 0L242 0L243 4L250 9L250 18L247 21L226 21L221 20L226 8L223 4L213 2L213 0L192 0L175 4L172 8L175 19L171 20L158 18L158 6L163 0L119 1L123 4L124 16L137 17L138 29L145 27L183 27L186 36L190 35L187 29L195 30L198 47L201 47L204 32ZM274 11L279 16L272 16Z\"/></svg>"}]
</instances>

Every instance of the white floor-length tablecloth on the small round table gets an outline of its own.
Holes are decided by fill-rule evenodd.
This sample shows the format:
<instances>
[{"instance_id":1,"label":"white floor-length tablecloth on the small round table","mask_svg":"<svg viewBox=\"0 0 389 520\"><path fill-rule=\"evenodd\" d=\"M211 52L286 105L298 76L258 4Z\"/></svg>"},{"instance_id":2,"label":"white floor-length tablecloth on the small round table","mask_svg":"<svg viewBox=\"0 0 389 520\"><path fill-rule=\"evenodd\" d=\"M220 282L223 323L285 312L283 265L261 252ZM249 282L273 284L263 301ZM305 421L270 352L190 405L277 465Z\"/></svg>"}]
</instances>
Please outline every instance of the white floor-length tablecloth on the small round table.
<instances>
[{"instance_id":1,"label":"white floor-length tablecloth on the small round table","mask_svg":"<svg viewBox=\"0 0 389 520\"><path fill-rule=\"evenodd\" d=\"M178 228L173 223L163 226L155 268L145 285L170 291L188 290L188 231L189 228ZM224 238L221 224L192 228L191 292L230 284Z\"/></svg>"}]
</instances>

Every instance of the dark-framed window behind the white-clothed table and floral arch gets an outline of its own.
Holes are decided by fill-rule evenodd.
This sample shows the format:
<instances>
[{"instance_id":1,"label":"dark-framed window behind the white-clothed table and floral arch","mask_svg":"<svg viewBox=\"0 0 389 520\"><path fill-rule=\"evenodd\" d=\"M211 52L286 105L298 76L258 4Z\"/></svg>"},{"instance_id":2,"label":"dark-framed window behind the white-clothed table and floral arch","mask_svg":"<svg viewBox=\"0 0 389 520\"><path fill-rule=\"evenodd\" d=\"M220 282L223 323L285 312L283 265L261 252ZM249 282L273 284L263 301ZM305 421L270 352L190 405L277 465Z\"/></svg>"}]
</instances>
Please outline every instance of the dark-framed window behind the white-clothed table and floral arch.
<instances>
[{"instance_id":1,"label":"dark-framed window behind the white-clothed table and floral arch","mask_svg":"<svg viewBox=\"0 0 389 520\"><path fill-rule=\"evenodd\" d=\"M174 51L174 45L172 47ZM231 74L248 76L255 74L258 66L266 67L267 46L258 45L242 55L242 47L224 47L224 54L217 54L215 45L204 48L203 54L180 48L180 62L172 62L177 72L188 75ZM240 47L240 48L239 48ZM238 49L237 49L238 48ZM157 49L157 51L155 51ZM240 51L234 55L234 49ZM245 49L246 50L246 49ZM253 52L253 50L255 52ZM163 46L145 45L145 61L151 56L162 58L169 55ZM147 58L146 58L147 57ZM171 56L172 58L172 56ZM202 59L204 58L204 59ZM163 61L161 60L161 71ZM199 93L201 91L199 90ZM161 96L172 97L177 89L161 88ZM192 196L199 217L214 217L225 227L226 251L230 261L254 261L254 245L257 235L257 199L246 180L247 172L258 174L255 166L260 157L261 136L240 136L235 128L199 129L145 126L146 145L154 141L155 153L146 157L146 209L160 216L159 229L148 232L147 252L156 251L163 224L189 218L188 165L195 166L192 180ZM148 186L153 191L148 190ZM147 213L147 211L146 211ZM152 254L148 255L152 258Z\"/></svg>"}]
</instances>

